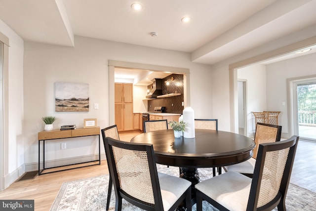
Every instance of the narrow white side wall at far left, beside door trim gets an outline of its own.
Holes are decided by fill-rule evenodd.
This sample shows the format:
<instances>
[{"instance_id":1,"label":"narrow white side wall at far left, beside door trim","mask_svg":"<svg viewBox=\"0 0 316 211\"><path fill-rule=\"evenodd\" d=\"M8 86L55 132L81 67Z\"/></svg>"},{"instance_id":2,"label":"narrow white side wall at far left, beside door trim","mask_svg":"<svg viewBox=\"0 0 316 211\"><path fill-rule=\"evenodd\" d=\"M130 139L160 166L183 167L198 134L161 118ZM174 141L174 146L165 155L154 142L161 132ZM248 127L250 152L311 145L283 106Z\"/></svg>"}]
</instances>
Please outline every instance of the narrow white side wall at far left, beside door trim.
<instances>
[{"instance_id":1,"label":"narrow white side wall at far left, beside door trim","mask_svg":"<svg viewBox=\"0 0 316 211\"><path fill-rule=\"evenodd\" d=\"M24 127L23 127L23 40L0 20L0 32L9 38L8 75L4 78L7 85L8 100L4 102L8 112L4 118L8 119L5 126L8 139L4 141L4 166L2 178L5 186L13 182L24 170ZM8 149L8 151L6 150ZM2 153L2 152L1 152ZM2 164L1 164L2 166Z\"/></svg>"}]
</instances>

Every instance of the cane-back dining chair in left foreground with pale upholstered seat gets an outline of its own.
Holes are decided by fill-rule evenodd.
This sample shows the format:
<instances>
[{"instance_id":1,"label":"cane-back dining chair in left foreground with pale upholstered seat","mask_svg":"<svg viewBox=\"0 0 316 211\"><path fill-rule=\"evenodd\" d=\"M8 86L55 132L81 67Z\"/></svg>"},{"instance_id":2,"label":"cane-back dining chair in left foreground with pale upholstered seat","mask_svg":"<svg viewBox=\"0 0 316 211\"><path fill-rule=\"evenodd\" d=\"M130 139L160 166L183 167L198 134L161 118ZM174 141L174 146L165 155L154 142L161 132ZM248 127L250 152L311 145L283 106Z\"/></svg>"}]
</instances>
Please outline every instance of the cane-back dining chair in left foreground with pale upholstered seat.
<instances>
[{"instance_id":1,"label":"cane-back dining chair in left foreground with pale upholstered seat","mask_svg":"<svg viewBox=\"0 0 316 211\"><path fill-rule=\"evenodd\" d=\"M105 138L110 174L116 195L115 210L122 208L122 199L148 211L174 211L185 201L191 211L191 182L158 173L154 147Z\"/></svg>"}]
</instances>

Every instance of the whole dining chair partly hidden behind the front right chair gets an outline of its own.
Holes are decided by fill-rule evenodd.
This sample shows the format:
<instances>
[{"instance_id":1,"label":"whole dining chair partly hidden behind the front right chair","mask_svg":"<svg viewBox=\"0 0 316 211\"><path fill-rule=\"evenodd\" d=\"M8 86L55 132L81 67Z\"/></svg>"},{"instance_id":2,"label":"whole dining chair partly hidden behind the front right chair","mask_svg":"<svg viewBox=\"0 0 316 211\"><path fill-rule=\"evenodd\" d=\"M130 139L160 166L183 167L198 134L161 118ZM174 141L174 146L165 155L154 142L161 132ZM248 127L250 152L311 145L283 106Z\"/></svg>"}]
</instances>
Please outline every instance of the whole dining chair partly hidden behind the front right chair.
<instances>
[{"instance_id":1,"label":"whole dining chair partly hidden behind the front right chair","mask_svg":"<svg viewBox=\"0 0 316 211\"><path fill-rule=\"evenodd\" d=\"M256 146L253 149L253 156L245 162L235 164L232 166L223 167L224 170L226 172L236 171L251 178L253 175L255 164L256 164L259 144L280 141L281 129L282 129L282 126L257 123L256 133L254 137Z\"/></svg>"}]
</instances>

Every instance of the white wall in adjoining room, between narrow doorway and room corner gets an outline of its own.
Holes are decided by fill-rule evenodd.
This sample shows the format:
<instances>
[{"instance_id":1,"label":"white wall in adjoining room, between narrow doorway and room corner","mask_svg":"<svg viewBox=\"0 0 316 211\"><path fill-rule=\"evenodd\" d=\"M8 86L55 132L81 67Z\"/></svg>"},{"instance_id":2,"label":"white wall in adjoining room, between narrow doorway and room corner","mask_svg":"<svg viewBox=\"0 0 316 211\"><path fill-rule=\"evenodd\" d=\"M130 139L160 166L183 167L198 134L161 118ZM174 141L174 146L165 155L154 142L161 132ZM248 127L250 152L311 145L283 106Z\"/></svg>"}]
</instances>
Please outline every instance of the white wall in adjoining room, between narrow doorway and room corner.
<instances>
[{"instance_id":1,"label":"white wall in adjoining room, between narrow doorway and room corner","mask_svg":"<svg viewBox=\"0 0 316 211\"><path fill-rule=\"evenodd\" d=\"M256 124L252 112L267 110L266 66L257 64L240 68L237 77L247 80L247 131L248 136L253 137Z\"/></svg>"}]
</instances>

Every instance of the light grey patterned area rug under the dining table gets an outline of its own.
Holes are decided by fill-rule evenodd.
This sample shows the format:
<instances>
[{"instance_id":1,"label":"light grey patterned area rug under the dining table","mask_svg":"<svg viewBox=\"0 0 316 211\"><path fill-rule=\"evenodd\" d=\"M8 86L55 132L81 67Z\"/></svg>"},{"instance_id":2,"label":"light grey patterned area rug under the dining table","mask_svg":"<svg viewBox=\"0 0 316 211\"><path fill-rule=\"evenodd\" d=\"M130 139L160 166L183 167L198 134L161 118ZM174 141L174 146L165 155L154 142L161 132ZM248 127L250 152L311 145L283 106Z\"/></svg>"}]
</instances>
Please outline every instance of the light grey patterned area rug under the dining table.
<instances>
[{"instance_id":1,"label":"light grey patterned area rug under the dining table","mask_svg":"<svg viewBox=\"0 0 316 211\"><path fill-rule=\"evenodd\" d=\"M179 175L179 168L157 165L159 172ZM212 169L198 169L200 180L212 177ZM109 175L101 175L65 182L52 204L50 211L105 211L108 193ZM288 211L316 211L316 193L290 184L286 196ZM110 211L115 210L115 194L112 192ZM141 209L123 200L123 211L141 211ZM196 211L196 205L192 207ZM277 209L275 209L277 211ZM207 202L203 202L203 211L217 211Z\"/></svg>"}]
</instances>

